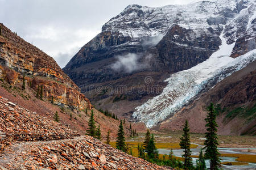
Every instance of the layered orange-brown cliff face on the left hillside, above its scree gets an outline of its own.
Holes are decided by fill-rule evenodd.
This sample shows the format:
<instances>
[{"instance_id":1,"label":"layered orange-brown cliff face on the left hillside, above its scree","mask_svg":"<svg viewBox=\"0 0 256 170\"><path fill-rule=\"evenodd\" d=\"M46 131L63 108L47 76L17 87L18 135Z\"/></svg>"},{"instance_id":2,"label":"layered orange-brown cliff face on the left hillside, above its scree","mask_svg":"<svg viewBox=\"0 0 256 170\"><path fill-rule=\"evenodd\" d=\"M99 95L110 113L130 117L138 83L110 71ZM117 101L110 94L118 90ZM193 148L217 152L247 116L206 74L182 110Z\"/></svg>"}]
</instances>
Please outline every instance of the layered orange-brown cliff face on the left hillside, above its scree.
<instances>
[{"instance_id":1,"label":"layered orange-brown cliff face on the left hillside, above its scree","mask_svg":"<svg viewBox=\"0 0 256 170\"><path fill-rule=\"evenodd\" d=\"M77 109L91 109L90 101L80 93L79 87L60 69L52 57L21 39L5 25L0 24L0 76L14 86L22 81L55 104Z\"/></svg>"}]
</instances>

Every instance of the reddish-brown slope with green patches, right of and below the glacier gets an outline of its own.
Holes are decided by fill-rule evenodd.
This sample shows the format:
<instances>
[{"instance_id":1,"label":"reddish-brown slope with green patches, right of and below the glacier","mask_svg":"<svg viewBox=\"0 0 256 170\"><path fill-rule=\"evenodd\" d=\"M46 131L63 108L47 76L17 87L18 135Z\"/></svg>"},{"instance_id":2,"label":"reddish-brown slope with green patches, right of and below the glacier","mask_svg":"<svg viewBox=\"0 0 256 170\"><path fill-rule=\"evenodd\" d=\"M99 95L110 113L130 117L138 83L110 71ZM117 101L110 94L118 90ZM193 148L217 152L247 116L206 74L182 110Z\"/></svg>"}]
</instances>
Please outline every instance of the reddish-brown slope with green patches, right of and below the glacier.
<instances>
[{"instance_id":1,"label":"reddish-brown slope with green patches, right of and below the glacier","mask_svg":"<svg viewBox=\"0 0 256 170\"><path fill-rule=\"evenodd\" d=\"M185 119L191 131L204 133L205 107L213 102L218 111L218 133L256 134L256 61L218 82L209 91L185 105L173 117L161 122L158 130L182 130Z\"/></svg>"}]
</instances>

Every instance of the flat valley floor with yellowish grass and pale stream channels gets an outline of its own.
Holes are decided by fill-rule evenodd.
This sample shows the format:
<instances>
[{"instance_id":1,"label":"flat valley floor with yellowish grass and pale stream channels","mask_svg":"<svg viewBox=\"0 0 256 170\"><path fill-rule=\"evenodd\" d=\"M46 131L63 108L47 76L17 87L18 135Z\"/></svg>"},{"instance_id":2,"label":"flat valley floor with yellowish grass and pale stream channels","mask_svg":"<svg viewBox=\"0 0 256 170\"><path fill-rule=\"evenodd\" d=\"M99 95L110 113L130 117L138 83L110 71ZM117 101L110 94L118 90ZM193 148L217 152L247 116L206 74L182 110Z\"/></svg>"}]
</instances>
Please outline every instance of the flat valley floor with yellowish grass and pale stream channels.
<instances>
[{"instance_id":1,"label":"flat valley floor with yellowish grass and pale stream channels","mask_svg":"<svg viewBox=\"0 0 256 170\"><path fill-rule=\"evenodd\" d=\"M129 138L127 143L132 148L133 155L138 156L137 146L142 145L144 133L135 138ZM181 132L155 133L156 148L159 151L159 158L168 159L170 151L173 150L176 159L183 160L183 150L180 149L179 142ZM220 145L218 149L221 153L221 164L223 169L254 169L256 168L256 138L255 136L218 136ZM200 147L204 147L204 134L191 134L191 151L193 163L196 164ZM115 147L115 142L110 145ZM207 162L207 164L209 164Z\"/></svg>"}]
</instances>

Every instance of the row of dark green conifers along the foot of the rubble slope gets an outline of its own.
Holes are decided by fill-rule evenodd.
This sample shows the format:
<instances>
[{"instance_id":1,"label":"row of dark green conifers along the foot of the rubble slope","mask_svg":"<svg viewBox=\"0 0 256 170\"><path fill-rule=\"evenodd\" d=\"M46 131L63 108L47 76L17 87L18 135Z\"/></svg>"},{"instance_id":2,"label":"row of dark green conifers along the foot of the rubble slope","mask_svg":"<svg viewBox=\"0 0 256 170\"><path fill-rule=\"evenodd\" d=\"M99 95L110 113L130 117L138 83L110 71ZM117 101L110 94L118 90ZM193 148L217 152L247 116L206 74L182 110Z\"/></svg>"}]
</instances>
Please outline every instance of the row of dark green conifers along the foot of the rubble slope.
<instances>
[{"instance_id":1,"label":"row of dark green conifers along the foot of the rubble slope","mask_svg":"<svg viewBox=\"0 0 256 170\"><path fill-rule=\"evenodd\" d=\"M183 162L181 163L180 160L177 160L173 154L173 151L170 151L168 159L166 159L166 155L163 156L162 159L159 159L158 150L156 148L154 134L150 134L150 131L147 130L147 133L144 138L144 142L140 145L138 144L138 157L144 160L147 160L151 163L156 163L159 165L167 165L170 167L179 167L183 169L199 169L204 170L207 169L205 165L205 160L209 160L210 163L210 170L215 170L221 167L220 165L220 153L218 152L218 138L217 138L217 122L216 122L216 110L214 109L213 103L209 105L207 108L208 115L205 118L207 128L207 132L205 133L205 142L204 148L200 148L199 159L196 160L196 165L192 164L191 158L191 141L190 141L190 134L189 134L189 125L188 121L185 120L184 128L183 128L183 135L180 137L180 148L183 149L184 154ZM116 147L118 150L123 152L129 153L133 155L132 150L128 144L125 142L125 132L123 130L123 124L125 124L125 120L121 120L118 128L117 140L116 140ZM101 139L101 131L100 125L96 128L94 118L93 118L93 111L90 115L90 119L88 122L89 128L86 129L86 134L95 137L97 139ZM130 124L130 130L131 124ZM131 135L130 135L131 136ZM110 131L108 131L107 141L106 143L109 145L110 143ZM203 150L205 152L203 153Z\"/></svg>"}]
</instances>

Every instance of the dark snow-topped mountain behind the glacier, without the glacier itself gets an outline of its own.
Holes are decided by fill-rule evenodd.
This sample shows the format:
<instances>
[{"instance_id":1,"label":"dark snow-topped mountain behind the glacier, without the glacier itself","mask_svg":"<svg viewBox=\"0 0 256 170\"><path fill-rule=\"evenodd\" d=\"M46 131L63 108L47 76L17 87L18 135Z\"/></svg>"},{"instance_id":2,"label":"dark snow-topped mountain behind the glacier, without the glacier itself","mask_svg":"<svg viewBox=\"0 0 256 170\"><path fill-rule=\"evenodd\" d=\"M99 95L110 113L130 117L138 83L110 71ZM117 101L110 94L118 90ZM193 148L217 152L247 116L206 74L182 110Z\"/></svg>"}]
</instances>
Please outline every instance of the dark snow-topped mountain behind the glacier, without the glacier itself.
<instances>
[{"instance_id":1,"label":"dark snow-topped mountain behind the glacier, without the glacier itself","mask_svg":"<svg viewBox=\"0 0 256 170\"><path fill-rule=\"evenodd\" d=\"M151 117L143 120L144 110L135 108L162 94L170 74L207 60L222 38L232 45L233 58L255 49L254 11L254 1L234 0L156 8L129 5L63 70L97 107L147 124ZM166 118L160 117L147 126Z\"/></svg>"}]
</instances>

